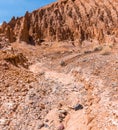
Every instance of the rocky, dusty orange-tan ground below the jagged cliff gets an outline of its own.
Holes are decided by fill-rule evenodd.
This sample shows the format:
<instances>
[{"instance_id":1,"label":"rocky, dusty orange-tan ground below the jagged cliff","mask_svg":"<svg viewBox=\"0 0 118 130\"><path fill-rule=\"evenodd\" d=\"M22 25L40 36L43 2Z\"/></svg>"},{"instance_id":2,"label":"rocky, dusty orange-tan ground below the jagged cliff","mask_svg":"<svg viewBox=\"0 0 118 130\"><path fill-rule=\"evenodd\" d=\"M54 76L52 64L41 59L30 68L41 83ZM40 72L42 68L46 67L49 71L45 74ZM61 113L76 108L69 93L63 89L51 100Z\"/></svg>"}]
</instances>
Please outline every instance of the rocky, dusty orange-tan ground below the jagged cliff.
<instances>
[{"instance_id":1,"label":"rocky, dusty orange-tan ground below the jagged cliff","mask_svg":"<svg viewBox=\"0 0 118 130\"><path fill-rule=\"evenodd\" d=\"M118 43L0 50L0 130L39 129L118 129Z\"/></svg>"}]
</instances>

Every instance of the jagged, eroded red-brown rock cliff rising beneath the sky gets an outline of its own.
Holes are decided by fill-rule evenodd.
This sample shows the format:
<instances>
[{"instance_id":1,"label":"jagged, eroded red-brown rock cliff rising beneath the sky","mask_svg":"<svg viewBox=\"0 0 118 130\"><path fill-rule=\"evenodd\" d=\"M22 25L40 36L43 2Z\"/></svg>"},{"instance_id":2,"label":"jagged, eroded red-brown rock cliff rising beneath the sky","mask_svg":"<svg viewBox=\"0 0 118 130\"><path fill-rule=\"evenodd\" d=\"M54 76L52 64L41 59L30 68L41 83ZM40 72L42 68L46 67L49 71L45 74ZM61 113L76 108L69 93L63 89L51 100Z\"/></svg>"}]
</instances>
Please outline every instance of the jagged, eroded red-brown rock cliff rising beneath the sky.
<instances>
[{"instance_id":1,"label":"jagged, eroded red-brown rock cliff rising beneath the sky","mask_svg":"<svg viewBox=\"0 0 118 130\"><path fill-rule=\"evenodd\" d=\"M117 0L59 0L33 11L24 17L3 23L1 33L10 42L25 41L40 44L43 41L84 40L108 42L118 37Z\"/></svg>"}]
</instances>

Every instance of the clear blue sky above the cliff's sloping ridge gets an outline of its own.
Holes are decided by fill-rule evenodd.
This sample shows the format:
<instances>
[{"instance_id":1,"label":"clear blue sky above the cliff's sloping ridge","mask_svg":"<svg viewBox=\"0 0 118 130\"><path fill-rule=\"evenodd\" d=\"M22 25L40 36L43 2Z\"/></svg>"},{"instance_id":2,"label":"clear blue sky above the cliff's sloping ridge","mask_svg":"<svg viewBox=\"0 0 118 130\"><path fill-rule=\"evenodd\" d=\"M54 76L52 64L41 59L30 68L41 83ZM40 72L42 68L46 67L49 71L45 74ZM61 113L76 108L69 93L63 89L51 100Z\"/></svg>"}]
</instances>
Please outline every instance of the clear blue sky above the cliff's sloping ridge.
<instances>
[{"instance_id":1,"label":"clear blue sky above the cliff's sloping ridge","mask_svg":"<svg viewBox=\"0 0 118 130\"><path fill-rule=\"evenodd\" d=\"M9 21L13 16L23 16L56 0L0 0L0 23Z\"/></svg>"}]
</instances>

